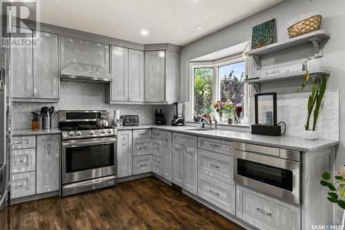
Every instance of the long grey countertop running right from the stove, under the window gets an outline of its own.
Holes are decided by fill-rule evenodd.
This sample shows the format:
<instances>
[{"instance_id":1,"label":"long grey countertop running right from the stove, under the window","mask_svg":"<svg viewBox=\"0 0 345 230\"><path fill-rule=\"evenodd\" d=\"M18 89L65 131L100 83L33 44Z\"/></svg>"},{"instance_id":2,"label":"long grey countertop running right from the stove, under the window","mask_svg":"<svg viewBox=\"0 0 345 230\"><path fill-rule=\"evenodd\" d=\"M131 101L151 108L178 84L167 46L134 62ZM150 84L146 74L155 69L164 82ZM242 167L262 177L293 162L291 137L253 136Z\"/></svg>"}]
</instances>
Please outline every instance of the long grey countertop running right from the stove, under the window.
<instances>
[{"instance_id":1,"label":"long grey countertop running right from the stove, under the window","mask_svg":"<svg viewBox=\"0 0 345 230\"><path fill-rule=\"evenodd\" d=\"M279 147L282 149L291 149L297 151L316 151L326 147L332 147L339 144L339 140L305 140L297 136L262 136L250 134L250 132L239 132L214 129L210 131L196 131L197 127L190 126L171 126L171 125L139 125L139 126L125 126L117 127L118 130L123 129L161 129L172 132L181 132L186 134L193 134L197 136L206 136L209 138L219 138L225 140L233 140L242 143L250 143L257 145L266 145L271 147Z\"/></svg>"}]
</instances>

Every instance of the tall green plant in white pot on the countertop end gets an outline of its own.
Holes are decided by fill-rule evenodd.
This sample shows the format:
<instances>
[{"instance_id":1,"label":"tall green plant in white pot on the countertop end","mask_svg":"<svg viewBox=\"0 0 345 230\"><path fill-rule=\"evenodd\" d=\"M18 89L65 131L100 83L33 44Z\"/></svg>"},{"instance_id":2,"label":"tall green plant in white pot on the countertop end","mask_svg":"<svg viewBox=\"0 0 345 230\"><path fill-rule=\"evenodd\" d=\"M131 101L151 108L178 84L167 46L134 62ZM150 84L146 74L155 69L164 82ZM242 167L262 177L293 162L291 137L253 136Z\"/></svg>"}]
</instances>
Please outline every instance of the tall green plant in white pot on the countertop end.
<instances>
[{"instance_id":1,"label":"tall green plant in white pot on the countertop end","mask_svg":"<svg viewBox=\"0 0 345 230\"><path fill-rule=\"evenodd\" d=\"M301 83L301 87L297 89L297 92L302 92L306 85L308 84L308 81L310 79L309 73L308 73L308 67L305 62L306 67L306 81ZM306 119L306 125L304 125L304 138L307 140L315 140L318 138L318 134L316 129L317 124L317 118L319 118L319 109L321 107L322 99L324 98L324 93L326 91L326 85L327 85L327 78L326 76L322 77L315 77L313 81L313 85L311 87L311 94L308 98L308 105L307 105L307 119ZM311 114L313 114L313 126L311 127Z\"/></svg>"}]
</instances>

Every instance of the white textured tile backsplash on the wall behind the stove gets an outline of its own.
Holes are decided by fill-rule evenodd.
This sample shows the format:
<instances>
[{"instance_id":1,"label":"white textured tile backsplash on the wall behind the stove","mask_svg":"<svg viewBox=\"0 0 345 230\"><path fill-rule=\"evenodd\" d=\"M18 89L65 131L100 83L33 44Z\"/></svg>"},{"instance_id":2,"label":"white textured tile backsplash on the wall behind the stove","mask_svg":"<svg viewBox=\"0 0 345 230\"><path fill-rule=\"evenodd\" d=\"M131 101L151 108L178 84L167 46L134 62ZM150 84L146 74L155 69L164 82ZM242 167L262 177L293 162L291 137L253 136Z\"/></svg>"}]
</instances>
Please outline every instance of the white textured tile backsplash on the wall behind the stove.
<instances>
[{"instance_id":1,"label":"white textured tile backsplash on the wall behind the stove","mask_svg":"<svg viewBox=\"0 0 345 230\"><path fill-rule=\"evenodd\" d=\"M105 85L95 83L78 83L61 81L59 103L13 103L13 128L30 129L32 114L39 112L43 106L54 106L52 114L52 127L57 127L57 111L67 110L107 110L110 124L113 124L114 110L119 109L120 114L139 115L139 124L155 123L155 109L162 109L167 123L175 112L174 105L118 105L105 103ZM41 124L40 124L41 125Z\"/></svg>"}]
</instances>

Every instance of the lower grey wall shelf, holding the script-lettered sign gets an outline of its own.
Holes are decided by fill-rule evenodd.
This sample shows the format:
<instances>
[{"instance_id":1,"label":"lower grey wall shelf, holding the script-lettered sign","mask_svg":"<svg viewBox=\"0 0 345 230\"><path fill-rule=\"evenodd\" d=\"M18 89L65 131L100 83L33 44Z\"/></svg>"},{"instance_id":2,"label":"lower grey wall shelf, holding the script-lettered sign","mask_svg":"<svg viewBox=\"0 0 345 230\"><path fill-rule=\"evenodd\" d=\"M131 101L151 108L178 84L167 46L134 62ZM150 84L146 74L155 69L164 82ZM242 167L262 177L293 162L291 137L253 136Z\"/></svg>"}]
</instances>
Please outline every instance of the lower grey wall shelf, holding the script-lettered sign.
<instances>
[{"instance_id":1,"label":"lower grey wall shelf, holding the script-lettered sign","mask_svg":"<svg viewBox=\"0 0 345 230\"><path fill-rule=\"evenodd\" d=\"M321 76L329 76L331 71L326 69L319 69L319 70L311 70L309 71L309 76L312 77L321 77ZM260 91L260 84L262 83L269 83L275 81L287 81L291 79L302 79L306 76L306 71L301 71L293 74L284 74L278 76L266 76L262 78L253 78L253 79L246 79L246 83L253 85L255 91L259 93Z\"/></svg>"}]
</instances>

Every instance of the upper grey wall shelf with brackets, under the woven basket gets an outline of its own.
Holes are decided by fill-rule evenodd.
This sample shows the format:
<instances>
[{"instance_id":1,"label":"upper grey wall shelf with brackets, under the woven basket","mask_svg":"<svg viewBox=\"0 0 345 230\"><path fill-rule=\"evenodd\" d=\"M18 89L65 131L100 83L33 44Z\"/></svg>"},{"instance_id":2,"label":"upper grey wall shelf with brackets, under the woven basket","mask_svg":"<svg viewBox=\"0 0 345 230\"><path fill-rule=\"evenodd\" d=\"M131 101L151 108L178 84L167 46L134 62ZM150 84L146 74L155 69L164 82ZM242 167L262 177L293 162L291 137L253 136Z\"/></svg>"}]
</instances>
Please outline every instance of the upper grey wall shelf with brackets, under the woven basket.
<instances>
[{"instance_id":1,"label":"upper grey wall shelf with brackets, under the woven basket","mask_svg":"<svg viewBox=\"0 0 345 230\"><path fill-rule=\"evenodd\" d=\"M271 54L274 52L279 52L282 50L286 50L289 48L294 48L298 45L304 45L306 43L313 43L315 48L315 57L322 56L322 48L323 44L322 41L325 39L329 39L331 34L326 32L325 30L317 30L315 32L310 32L308 34L303 34L300 36L296 36L293 39L288 39L286 41L273 43L271 45L266 45L262 48L257 48L255 50L250 50L245 52L246 56L251 56L253 61L255 61L255 65L257 66L257 70L261 67L261 56L266 54Z\"/></svg>"}]
</instances>

